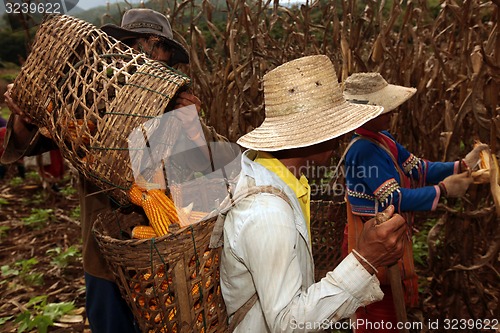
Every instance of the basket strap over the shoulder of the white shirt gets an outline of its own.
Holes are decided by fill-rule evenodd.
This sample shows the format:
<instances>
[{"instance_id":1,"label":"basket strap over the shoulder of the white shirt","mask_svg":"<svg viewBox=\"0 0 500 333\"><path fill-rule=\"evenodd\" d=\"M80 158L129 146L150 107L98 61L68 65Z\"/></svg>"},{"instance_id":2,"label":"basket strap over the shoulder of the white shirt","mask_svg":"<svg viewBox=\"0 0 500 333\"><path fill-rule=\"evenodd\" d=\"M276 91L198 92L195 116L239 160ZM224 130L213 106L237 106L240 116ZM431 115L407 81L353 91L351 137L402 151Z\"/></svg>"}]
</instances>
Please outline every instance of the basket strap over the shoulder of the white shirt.
<instances>
[{"instance_id":1,"label":"basket strap over the shoulder of the white shirt","mask_svg":"<svg viewBox=\"0 0 500 333\"><path fill-rule=\"evenodd\" d=\"M226 220L227 213L241 200L259 193L269 193L275 195L285 200L290 206L292 206L292 203L286 196L285 192L272 185L251 186L245 191L238 192L234 197L226 197L226 199L224 199L221 204L222 208L219 210L217 221L214 224L214 229L212 230L212 234L210 236L210 248L215 249L221 247L224 244L224 221Z\"/></svg>"}]
</instances>

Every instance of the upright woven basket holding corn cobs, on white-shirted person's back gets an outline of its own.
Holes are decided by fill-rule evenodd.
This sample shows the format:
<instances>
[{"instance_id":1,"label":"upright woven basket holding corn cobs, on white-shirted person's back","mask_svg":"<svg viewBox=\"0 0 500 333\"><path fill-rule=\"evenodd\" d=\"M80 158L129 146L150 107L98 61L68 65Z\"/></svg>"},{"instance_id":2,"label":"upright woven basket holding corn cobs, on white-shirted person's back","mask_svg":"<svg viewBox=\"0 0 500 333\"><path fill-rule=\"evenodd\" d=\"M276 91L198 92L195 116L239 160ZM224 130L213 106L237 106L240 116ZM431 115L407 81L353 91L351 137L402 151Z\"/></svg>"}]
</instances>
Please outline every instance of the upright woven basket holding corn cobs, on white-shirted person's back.
<instances>
[{"instance_id":1,"label":"upright woven basket holding corn cobs, on white-shirted person's back","mask_svg":"<svg viewBox=\"0 0 500 333\"><path fill-rule=\"evenodd\" d=\"M130 239L137 213L101 214L94 234L142 332L225 332L221 248L210 249L216 216L153 239Z\"/></svg>"}]
</instances>

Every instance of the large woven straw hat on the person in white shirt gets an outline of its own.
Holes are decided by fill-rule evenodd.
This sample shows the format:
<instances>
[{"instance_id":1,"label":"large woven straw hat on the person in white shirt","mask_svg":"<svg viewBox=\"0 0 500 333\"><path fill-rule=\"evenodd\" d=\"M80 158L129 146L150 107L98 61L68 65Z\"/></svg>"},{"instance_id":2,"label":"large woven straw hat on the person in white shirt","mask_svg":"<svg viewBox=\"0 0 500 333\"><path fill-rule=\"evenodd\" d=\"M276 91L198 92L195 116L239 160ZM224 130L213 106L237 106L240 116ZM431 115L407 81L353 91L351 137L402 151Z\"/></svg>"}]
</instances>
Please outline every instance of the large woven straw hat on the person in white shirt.
<instances>
[{"instance_id":1,"label":"large woven straw hat on the person in white shirt","mask_svg":"<svg viewBox=\"0 0 500 333\"><path fill-rule=\"evenodd\" d=\"M245 148L312 146L360 127L383 110L346 102L325 55L292 60L264 75L264 101L264 122L238 140Z\"/></svg>"}]
</instances>

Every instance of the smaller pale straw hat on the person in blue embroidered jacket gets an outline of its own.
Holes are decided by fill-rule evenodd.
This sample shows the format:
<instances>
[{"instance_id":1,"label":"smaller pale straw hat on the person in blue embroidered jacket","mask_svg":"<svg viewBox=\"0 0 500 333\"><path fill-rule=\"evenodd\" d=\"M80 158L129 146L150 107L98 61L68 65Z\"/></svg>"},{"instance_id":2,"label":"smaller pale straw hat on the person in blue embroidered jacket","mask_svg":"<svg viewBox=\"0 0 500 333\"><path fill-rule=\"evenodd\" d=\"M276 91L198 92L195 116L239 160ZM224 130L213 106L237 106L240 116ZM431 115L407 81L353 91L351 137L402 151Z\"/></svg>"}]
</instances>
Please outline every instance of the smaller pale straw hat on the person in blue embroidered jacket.
<instances>
[{"instance_id":1,"label":"smaller pale straw hat on the person in blue embroidered jacket","mask_svg":"<svg viewBox=\"0 0 500 333\"><path fill-rule=\"evenodd\" d=\"M354 73L344 83L344 97L351 102L384 107L384 112L394 110L417 89L388 84L379 73Z\"/></svg>"}]
</instances>

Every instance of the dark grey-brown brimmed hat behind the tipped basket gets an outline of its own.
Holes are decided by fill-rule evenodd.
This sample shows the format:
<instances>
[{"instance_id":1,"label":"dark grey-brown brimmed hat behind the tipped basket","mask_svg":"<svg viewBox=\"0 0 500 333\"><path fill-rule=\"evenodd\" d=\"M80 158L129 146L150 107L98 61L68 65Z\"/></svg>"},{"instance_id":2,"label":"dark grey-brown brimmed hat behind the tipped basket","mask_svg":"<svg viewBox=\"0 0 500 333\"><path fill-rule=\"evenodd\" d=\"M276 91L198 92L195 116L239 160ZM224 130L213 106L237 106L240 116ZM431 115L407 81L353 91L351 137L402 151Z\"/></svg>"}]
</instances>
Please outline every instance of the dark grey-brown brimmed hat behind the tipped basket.
<instances>
[{"instance_id":1,"label":"dark grey-brown brimmed hat behind the tipped basket","mask_svg":"<svg viewBox=\"0 0 500 333\"><path fill-rule=\"evenodd\" d=\"M123 14L121 26L105 24L101 30L120 41L129 38L147 38L150 35L159 36L165 44L173 49L170 65L189 63L187 50L174 40L170 22L157 11L147 8L130 9Z\"/></svg>"}]
</instances>

